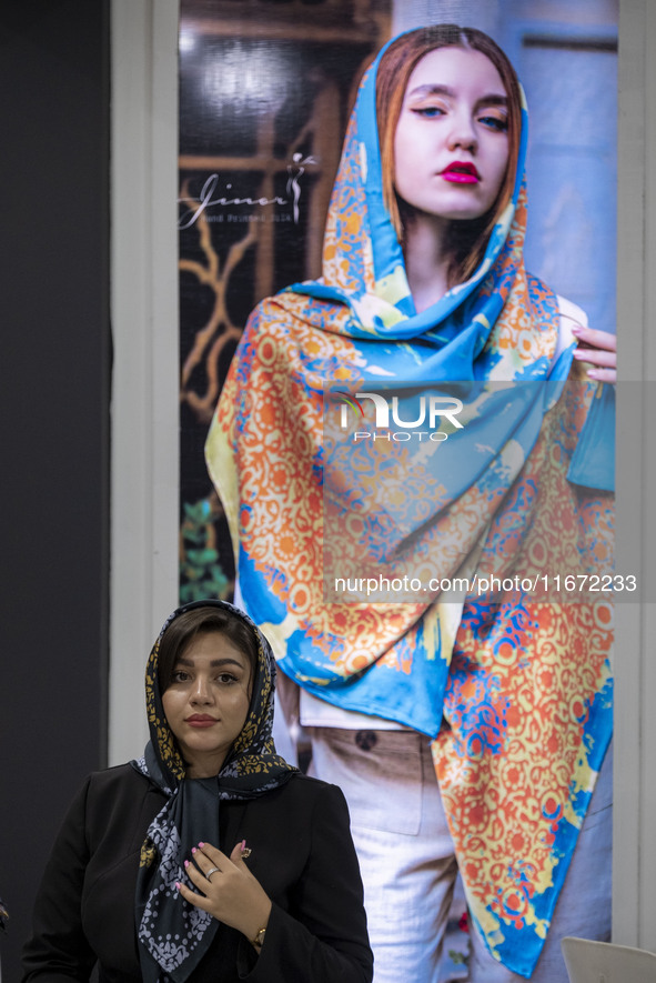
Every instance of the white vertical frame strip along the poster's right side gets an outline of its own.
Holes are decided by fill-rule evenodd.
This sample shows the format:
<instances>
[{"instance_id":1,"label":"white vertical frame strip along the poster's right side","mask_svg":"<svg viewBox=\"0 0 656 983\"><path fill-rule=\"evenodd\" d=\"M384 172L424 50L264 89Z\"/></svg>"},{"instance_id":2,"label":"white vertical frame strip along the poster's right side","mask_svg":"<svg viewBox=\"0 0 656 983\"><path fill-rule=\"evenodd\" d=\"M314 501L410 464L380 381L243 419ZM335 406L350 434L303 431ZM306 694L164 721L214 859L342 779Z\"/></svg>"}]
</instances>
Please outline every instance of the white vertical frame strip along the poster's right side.
<instances>
[{"instance_id":1,"label":"white vertical frame strip along the poster's right side","mask_svg":"<svg viewBox=\"0 0 656 983\"><path fill-rule=\"evenodd\" d=\"M618 569L656 584L656 39L652 0L620 0L618 120ZM647 383L649 383L647 385ZM656 952L656 636L654 603L616 606L613 937Z\"/></svg>"}]
</instances>

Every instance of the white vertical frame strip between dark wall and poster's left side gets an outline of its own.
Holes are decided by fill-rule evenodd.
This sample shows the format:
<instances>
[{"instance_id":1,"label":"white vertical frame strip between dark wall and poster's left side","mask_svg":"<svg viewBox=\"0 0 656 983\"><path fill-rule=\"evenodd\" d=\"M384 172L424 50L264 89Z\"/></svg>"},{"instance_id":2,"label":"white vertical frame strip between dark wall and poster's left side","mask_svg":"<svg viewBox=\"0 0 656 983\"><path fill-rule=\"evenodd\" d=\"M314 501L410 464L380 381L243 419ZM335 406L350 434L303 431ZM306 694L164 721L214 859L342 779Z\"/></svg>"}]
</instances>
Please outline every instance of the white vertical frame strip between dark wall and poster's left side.
<instances>
[{"instance_id":1,"label":"white vertical frame strip between dark wall and poster's left side","mask_svg":"<svg viewBox=\"0 0 656 983\"><path fill-rule=\"evenodd\" d=\"M178 0L112 0L110 764L143 751L178 599Z\"/></svg>"}]
</instances>

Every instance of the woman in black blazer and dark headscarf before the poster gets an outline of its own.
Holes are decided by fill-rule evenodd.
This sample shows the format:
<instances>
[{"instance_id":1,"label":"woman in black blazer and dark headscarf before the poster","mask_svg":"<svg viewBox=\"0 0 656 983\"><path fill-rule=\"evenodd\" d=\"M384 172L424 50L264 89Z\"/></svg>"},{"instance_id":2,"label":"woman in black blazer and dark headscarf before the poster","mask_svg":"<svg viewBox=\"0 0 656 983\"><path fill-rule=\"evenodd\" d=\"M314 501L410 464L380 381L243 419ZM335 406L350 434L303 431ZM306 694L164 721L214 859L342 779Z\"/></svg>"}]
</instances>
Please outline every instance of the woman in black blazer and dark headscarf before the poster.
<instances>
[{"instance_id":1,"label":"woman in black blazer and dark headscarf before the poster","mask_svg":"<svg viewBox=\"0 0 656 983\"><path fill-rule=\"evenodd\" d=\"M180 608L147 668L145 756L91 775L53 847L24 981L367 983L339 789L271 739L275 663L221 601Z\"/></svg>"}]
</instances>

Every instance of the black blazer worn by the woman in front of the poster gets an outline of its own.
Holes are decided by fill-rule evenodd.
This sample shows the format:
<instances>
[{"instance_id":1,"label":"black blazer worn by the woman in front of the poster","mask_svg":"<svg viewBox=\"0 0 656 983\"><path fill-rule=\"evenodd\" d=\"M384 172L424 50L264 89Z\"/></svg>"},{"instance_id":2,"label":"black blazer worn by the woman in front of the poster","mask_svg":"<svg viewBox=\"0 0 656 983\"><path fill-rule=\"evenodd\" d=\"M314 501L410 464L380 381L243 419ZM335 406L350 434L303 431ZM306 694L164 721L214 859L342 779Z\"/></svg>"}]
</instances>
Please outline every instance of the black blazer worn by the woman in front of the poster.
<instances>
[{"instance_id":1,"label":"black blazer worn by the woman in front of the poster","mask_svg":"<svg viewBox=\"0 0 656 983\"><path fill-rule=\"evenodd\" d=\"M23 983L141 981L134 892L141 844L164 796L124 764L92 774L46 867L23 957ZM221 924L189 983L370 983L373 956L349 812L336 785L294 775L248 802L221 803L206 840L248 864L273 902L260 955Z\"/></svg>"}]
</instances>

